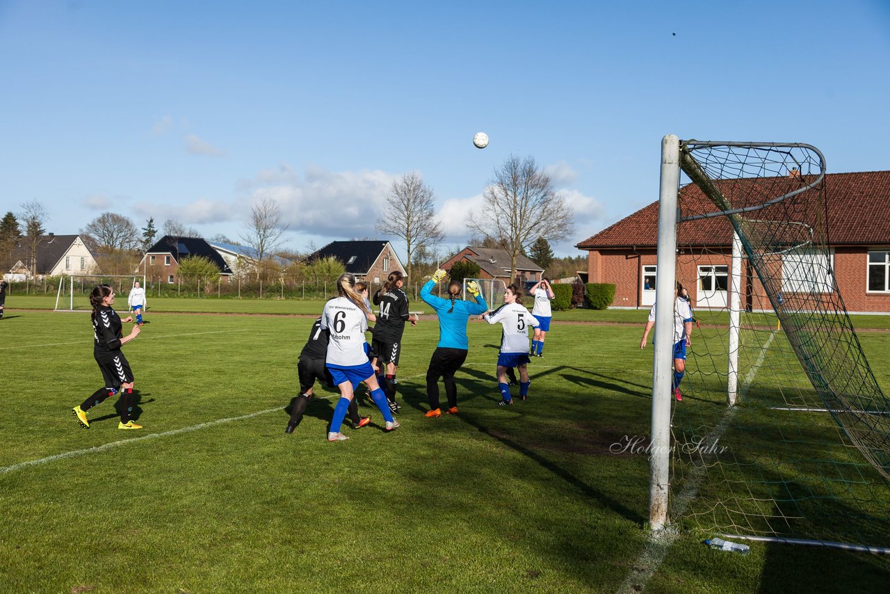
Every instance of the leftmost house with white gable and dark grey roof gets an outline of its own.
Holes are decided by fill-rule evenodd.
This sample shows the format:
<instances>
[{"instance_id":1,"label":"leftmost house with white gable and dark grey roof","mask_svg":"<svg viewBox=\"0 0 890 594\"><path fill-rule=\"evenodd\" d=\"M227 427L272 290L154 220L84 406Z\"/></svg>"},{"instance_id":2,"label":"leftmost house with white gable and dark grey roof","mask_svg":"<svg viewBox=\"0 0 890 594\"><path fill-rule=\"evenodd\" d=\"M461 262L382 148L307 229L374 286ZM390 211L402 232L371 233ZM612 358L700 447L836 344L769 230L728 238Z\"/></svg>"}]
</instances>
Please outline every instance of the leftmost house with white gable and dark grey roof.
<instances>
[{"instance_id":1,"label":"leftmost house with white gable and dark grey roof","mask_svg":"<svg viewBox=\"0 0 890 594\"><path fill-rule=\"evenodd\" d=\"M14 251L17 262L9 271L11 278L31 278L31 245L28 237L22 237ZM86 247L80 235L56 235L47 233L37 245L36 278L61 274L93 274L96 258Z\"/></svg>"}]
</instances>

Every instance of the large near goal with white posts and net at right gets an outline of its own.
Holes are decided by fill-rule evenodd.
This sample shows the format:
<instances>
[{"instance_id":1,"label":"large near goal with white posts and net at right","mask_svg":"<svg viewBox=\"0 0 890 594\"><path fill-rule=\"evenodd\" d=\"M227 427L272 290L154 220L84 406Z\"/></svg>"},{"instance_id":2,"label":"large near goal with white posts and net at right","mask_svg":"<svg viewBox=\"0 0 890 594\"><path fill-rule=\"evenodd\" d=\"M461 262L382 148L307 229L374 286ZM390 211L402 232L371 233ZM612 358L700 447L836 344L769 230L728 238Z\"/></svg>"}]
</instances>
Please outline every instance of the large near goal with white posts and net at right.
<instances>
[{"instance_id":1,"label":"large near goal with white posts and net at right","mask_svg":"<svg viewBox=\"0 0 890 594\"><path fill-rule=\"evenodd\" d=\"M677 149L684 177L667 206L676 221L659 222L658 283L671 295L658 299L670 303L680 281L697 323L682 402L671 397L671 354L656 354L652 440L669 435L669 470L653 462L651 524L890 552L890 402L835 280L828 223L838 214L821 153L797 143ZM664 328L669 342L659 322L656 338Z\"/></svg>"}]
</instances>

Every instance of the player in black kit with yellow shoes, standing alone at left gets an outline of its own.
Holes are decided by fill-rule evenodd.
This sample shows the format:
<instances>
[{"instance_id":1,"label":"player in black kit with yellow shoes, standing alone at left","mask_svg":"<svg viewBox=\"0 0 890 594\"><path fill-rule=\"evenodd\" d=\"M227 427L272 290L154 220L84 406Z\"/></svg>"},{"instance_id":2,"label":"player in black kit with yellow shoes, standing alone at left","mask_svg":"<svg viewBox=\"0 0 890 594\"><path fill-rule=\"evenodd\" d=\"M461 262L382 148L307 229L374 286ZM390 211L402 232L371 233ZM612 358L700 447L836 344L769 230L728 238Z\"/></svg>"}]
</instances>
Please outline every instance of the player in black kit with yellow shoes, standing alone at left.
<instances>
[{"instance_id":1,"label":"player in black kit with yellow shoes, standing alone at left","mask_svg":"<svg viewBox=\"0 0 890 594\"><path fill-rule=\"evenodd\" d=\"M132 317L121 320L114 305L114 289L108 285L99 285L90 293L90 304L93 305L93 357L99 363L105 387L96 390L84 403L75 406L74 416L81 427L90 428L86 420L86 411L101 403L109 396L120 394L120 422L118 429L142 429L130 420L130 409L133 408L133 370L126 361L120 347L139 336L140 328L134 325L127 336L121 333L125 323L133 321Z\"/></svg>"}]
</instances>

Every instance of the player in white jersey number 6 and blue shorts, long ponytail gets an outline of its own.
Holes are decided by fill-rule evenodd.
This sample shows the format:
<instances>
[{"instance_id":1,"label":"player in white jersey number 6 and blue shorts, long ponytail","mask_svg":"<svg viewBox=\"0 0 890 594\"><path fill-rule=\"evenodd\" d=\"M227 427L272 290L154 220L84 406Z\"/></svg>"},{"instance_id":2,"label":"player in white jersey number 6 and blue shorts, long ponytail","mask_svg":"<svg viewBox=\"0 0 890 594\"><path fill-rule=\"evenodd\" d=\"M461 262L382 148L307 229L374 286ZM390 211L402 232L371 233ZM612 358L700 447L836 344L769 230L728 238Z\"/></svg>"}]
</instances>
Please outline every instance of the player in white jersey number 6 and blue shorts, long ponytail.
<instances>
[{"instance_id":1,"label":"player in white jersey number 6 and blue shorts, long ponytail","mask_svg":"<svg viewBox=\"0 0 890 594\"><path fill-rule=\"evenodd\" d=\"M328 441L337 442L349 439L340 433L340 426L349 404L355 397L355 388L361 382L368 385L371 391L371 399L383 413L386 421L386 430L392 431L399 427L399 422L392 419L389 405L386 403L386 395L377 384L374 368L368 362L368 354L365 351L365 330L368 330L368 320L376 318L365 305L364 298L355 289L355 277L350 273L340 275L336 282L337 294L325 304L321 313L321 329L328 330L328 356L325 364L334 378L334 383L340 388L340 400L334 408L334 418L328 429Z\"/></svg>"}]
</instances>

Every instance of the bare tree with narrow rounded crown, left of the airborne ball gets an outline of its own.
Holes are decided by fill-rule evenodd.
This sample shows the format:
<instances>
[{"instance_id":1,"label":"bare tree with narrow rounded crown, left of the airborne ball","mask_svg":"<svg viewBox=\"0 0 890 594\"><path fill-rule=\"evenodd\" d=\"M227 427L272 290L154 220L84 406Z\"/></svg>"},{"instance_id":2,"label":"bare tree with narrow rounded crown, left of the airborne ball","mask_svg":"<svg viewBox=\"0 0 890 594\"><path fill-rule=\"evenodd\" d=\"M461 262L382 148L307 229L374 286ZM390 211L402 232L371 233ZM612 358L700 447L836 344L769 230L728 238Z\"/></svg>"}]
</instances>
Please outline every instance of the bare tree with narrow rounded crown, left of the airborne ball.
<instances>
[{"instance_id":1,"label":"bare tree with narrow rounded crown, left of the airborne ball","mask_svg":"<svg viewBox=\"0 0 890 594\"><path fill-rule=\"evenodd\" d=\"M416 173L402 175L392 182L386 194L383 216L376 229L391 233L405 242L408 250L408 278L411 278L411 253L439 243L444 234L435 219L436 195Z\"/></svg>"}]
</instances>

